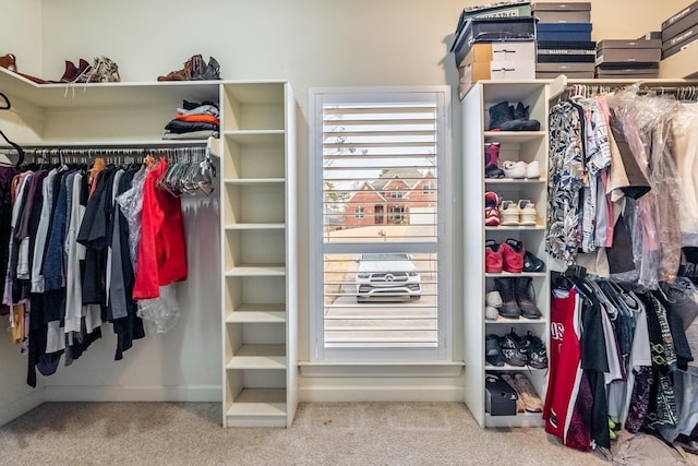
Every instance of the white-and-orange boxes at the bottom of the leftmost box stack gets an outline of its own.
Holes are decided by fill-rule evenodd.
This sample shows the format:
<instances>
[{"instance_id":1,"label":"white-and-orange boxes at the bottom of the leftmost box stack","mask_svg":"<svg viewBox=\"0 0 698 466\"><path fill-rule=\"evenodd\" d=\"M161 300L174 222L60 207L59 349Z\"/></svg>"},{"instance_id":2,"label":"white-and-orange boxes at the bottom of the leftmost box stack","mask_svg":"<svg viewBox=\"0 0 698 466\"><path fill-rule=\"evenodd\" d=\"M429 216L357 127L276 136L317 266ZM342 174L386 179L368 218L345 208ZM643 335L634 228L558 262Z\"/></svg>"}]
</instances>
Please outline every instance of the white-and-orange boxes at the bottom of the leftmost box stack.
<instances>
[{"instance_id":1,"label":"white-and-orange boxes at the bottom of the leftmost box stack","mask_svg":"<svg viewBox=\"0 0 698 466\"><path fill-rule=\"evenodd\" d=\"M473 44L458 67L461 95L480 80L532 80L535 77L535 43Z\"/></svg>"}]
</instances>

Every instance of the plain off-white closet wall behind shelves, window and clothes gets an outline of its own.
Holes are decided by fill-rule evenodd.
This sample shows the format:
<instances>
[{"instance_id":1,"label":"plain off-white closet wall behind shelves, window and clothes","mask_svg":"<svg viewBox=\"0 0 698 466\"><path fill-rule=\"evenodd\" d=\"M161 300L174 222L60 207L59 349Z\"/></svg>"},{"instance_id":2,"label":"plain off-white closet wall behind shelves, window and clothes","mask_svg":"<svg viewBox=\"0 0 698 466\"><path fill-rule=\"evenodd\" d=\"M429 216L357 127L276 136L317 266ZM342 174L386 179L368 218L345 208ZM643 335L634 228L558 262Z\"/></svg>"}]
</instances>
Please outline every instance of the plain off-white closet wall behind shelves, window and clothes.
<instances>
[{"instance_id":1,"label":"plain off-white closet wall behind shelves, window and clothes","mask_svg":"<svg viewBox=\"0 0 698 466\"><path fill-rule=\"evenodd\" d=\"M181 69L194 53L214 56L228 80L289 80L299 101L299 187L308 186L308 88L342 85L457 84L448 53L461 9L484 0L0 0L0 55L12 51L23 71L46 79L63 73L63 60L92 60L106 55L119 63L123 81L155 81L157 75ZM593 38L636 38L658 29L661 21L688 0L616 0L592 2ZM0 89L1 91L1 89ZM454 106L454 129L460 126ZM455 151L461 146L454 131ZM461 172L455 153L453 174ZM457 181L457 180L455 180ZM460 196L455 182L456 200ZM300 238L306 238L308 192L299 192ZM455 204L454 225L460 224L460 203ZM217 208L217 207L216 207ZM196 215L191 211L191 215ZM207 212L206 222L215 220ZM460 231L454 231L456 237ZM192 234L190 234L192 235ZM205 241L197 232L192 241ZM204 238L204 239L202 239ZM456 241L457 244L457 241ZM301 243L301 275L308 272L308 249ZM456 256L459 256L457 248ZM190 253L202 264L205 248ZM208 262L204 262L208 261ZM454 263L455 271L461 266ZM130 393L179 394L205 398L220 384L219 309L217 294L206 280L217 268L201 267L181 296L186 315L166 335L136 342L121 362L111 361L109 338L91 348L84 360L51 378L49 398L111 397L111 387ZM460 272L454 283L461 280ZM300 283L306 283L301 279ZM301 310L308 292L300 290ZM212 299L206 296L214 296ZM182 303L182 302L180 302ZM456 303L456 309L458 309ZM301 315L301 357L308 354L308 315ZM455 327L461 325L454 322ZM457 346L457 345L456 345ZM0 346L5 367L7 348ZM15 356L15 355L13 355ZM21 359L21 358L20 358ZM13 362L14 363L14 362ZM3 378L4 381L4 378ZM4 396L4 382L0 396ZM457 381L455 382L457 383ZM159 390L157 387L165 387ZM167 387L171 387L168 391ZM189 389L193 387L193 392ZM141 390L142 389L142 390ZM118 389L117 389L118 390ZM213 391L213 392L212 392ZM197 393L198 395L193 395ZM208 394L208 395L204 395ZM155 397L157 397L155 396ZM128 396L125 396L128 398ZM117 396L118 398L118 396ZM0 398L0 406L3 405ZM2 423L2 419L0 419Z\"/></svg>"}]
</instances>

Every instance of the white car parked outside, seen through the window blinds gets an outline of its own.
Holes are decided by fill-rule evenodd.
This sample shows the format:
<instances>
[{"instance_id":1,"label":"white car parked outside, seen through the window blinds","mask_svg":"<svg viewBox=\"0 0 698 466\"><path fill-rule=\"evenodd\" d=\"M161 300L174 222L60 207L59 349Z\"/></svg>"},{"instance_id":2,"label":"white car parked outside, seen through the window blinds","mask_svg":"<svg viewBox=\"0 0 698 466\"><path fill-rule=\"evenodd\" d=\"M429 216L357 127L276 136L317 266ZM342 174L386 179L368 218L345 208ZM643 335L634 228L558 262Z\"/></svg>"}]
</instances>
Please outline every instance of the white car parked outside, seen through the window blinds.
<instances>
[{"instance_id":1,"label":"white car parked outside, seen through the window blinds","mask_svg":"<svg viewBox=\"0 0 698 466\"><path fill-rule=\"evenodd\" d=\"M357 301L404 301L422 292L419 270L406 252L371 252L359 256Z\"/></svg>"}]
</instances>

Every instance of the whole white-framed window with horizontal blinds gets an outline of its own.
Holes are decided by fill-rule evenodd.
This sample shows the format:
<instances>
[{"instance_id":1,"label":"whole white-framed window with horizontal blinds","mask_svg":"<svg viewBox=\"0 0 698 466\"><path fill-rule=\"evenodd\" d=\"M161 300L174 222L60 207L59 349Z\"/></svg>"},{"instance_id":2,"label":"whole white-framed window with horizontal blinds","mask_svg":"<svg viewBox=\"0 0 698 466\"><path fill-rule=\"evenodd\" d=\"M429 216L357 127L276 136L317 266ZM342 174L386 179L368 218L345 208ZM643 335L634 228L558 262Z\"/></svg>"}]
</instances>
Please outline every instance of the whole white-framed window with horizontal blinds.
<instances>
[{"instance_id":1,"label":"whole white-framed window with horizontal blinds","mask_svg":"<svg viewBox=\"0 0 698 466\"><path fill-rule=\"evenodd\" d=\"M449 89L311 89L309 101L311 359L450 358Z\"/></svg>"}]
</instances>

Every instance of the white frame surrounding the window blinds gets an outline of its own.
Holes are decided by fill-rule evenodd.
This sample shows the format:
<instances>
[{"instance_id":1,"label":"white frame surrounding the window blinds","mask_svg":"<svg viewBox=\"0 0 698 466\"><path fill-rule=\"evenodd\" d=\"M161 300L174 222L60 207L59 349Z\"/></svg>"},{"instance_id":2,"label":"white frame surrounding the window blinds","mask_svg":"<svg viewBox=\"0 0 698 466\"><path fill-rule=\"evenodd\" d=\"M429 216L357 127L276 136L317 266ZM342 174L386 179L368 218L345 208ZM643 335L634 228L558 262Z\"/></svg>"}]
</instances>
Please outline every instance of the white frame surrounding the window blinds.
<instances>
[{"instance_id":1,"label":"white frame surrounding the window blinds","mask_svg":"<svg viewBox=\"0 0 698 466\"><path fill-rule=\"evenodd\" d=\"M323 306L323 151L322 116L323 105L350 101L436 101L437 121L437 167L434 182L438 183L437 204L437 258L438 258L438 344L432 348L325 348ZM397 363L444 363L454 357L454 289L453 289L453 180L452 170L452 97L449 86L413 87L316 87L309 89L309 255L310 255L310 361L311 362L397 362ZM385 213L388 215L388 212ZM410 243L400 243L400 248ZM419 246L417 246L419 248ZM371 244L366 246L371 252Z\"/></svg>"}]
</instances>

